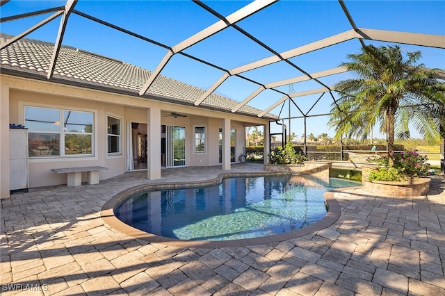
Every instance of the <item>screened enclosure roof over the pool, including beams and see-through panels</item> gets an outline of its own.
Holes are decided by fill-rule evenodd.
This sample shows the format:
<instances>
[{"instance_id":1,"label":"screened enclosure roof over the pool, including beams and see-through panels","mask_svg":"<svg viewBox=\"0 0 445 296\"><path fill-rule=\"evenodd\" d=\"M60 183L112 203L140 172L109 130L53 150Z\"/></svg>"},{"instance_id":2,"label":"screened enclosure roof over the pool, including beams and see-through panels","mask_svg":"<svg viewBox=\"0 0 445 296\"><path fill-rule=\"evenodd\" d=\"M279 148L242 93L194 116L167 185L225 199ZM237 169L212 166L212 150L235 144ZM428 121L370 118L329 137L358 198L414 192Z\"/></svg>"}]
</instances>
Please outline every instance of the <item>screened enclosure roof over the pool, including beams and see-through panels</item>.
<instances>
[{"instance_id":1,"label":"screened enclosure roof over the pool, including beams and see-through panels","mask_svg":"<svg viewBox=\"0 0 445 296\"><path fill-rule=\"evenodd\" d=\"M25 36L54 42L47 79L66 44L151 71L139 95L162 74L206 90L195 106L212 93L238 101L232 113L249 104L259 117L327 115L335 83L350 77L340 63L364 44L420 50L426 67L445 68L445 11L428 1L421 11L415 1L68 0L6 16L14 2L1 0L2 33L15 35L1 49Z\"/></svg>"}]
</instances>

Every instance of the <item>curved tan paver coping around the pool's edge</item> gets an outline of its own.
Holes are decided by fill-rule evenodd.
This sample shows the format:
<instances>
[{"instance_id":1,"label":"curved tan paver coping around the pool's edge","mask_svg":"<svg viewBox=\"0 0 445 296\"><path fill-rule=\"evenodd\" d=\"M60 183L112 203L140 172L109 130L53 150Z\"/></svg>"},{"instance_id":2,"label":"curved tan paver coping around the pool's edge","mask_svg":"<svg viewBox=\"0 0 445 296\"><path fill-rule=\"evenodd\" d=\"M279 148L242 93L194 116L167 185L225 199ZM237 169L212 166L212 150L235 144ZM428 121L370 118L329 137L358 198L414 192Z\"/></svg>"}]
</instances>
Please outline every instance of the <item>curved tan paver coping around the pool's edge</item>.
<instances>
[{"instance_id":1,"label":"curved tan paver coping around the pool's edge","mask_svg":"<svg viewBox=\"0 0 445 296\"><path fill-rule=\"evenodd\" d=\"M252 245L261 245L270 242L282 242L284 240L290 240L293 238L299 238L300 236L305 236L309 233L313 233L316 231L320 231L336 222L341 215L341 207L337 200L334 198L334 192L340 192L346 189L351 188L361 188L362 186L354 186L348 188L337 188L334 190L330 190L324 193L325 202L327 204L328 211L321 220L311 224L307 227L303 227L301 229L296 229L293 231L274 234L271 236L261 236L259 238L243 238L238 240L179 240L175 238L167 238L164 236L156 236L152 233L148 233L146 231L142 231L140 229L136 229L131 227L128 224L125 224L121 220L119 220L115 214L114 209L116 206L120 204L124 199L127 199L129 195L137 194L138 192L142 192L144 190L168 190L168 189L185 189L185 188L195 188L197 186L212 186L220 184L223 179L232 178L237 176L270 176L270 175L289 175L289 173L277 173L277 172L240 172L240 173L230 173L225 172L222 174L218 174L218 176L214 179L209 179L206 181L190 181L184 183L173 183L173 182L164 182L164 183L152 183L145 184L140 186L134 186L131 188L127 188L126 190L122 190L117 195L109 199L104 206L102 206L101 217L102 220L110 227L127 234L127 236L131 236L133 238L137 238L140 240L145 240L147 242L157 242L163 245L174 246L174 247L200 247L200 248L217 248L217 247L246 247Z\"/></svg>"}]
</instances>

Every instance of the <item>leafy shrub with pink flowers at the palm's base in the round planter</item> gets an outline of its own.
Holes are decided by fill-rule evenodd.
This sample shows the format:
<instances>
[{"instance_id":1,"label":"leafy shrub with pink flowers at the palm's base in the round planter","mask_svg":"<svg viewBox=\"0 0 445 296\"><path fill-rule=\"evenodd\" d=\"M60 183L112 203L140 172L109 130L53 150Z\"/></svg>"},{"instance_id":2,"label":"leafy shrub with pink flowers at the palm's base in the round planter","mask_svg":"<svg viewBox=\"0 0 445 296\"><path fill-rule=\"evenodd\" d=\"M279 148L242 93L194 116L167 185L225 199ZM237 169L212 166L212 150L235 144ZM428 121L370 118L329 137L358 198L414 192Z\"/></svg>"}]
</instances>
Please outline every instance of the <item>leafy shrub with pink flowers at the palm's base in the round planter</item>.
<instances>
[{"instance_id":1,"label":"leafy shrub with pink flowers at the palm's base in the round planter","mask_svg":"<svg viewBox=\"0 0 445 296\"><path fill-rule=\"evenodd\" d=\"M382 167L378 172L370 174L370 181L404 181L415 178L416 176L426 176L430 169L430 164L427 163L428 157L421 156L415 151L395 152L392 155L394 165L389 167L389 157L382 155L375 155L367 159L370 163L375 163ZM398 175L398 180L395 175ZM373 179L371 179L373 178Z\"/></svg>"}]
</instances>

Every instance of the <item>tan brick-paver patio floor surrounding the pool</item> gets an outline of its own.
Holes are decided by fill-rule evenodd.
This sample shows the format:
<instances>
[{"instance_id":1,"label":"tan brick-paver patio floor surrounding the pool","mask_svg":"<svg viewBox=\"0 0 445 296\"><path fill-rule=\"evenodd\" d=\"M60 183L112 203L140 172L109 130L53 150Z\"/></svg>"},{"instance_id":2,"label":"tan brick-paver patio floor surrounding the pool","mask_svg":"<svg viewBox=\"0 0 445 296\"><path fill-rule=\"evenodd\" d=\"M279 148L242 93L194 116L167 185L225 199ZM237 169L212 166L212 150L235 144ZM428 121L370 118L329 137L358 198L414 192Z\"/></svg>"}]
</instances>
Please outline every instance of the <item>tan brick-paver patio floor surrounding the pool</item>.
<instances>
[{"instance_id":1,"label":"tan brick-paver patio floor surrounding the pool","mask_svg":"<svg viewBox=\"0 0 445 296\"><path fill-rule=\"evenodd\" d=\"M230 172L261 172L233 165ZM243 247L178 247L127 236L102 206L147 183L213 179L220 167L131 172L1 200L1 295L445 295L445 181L426 196L334 193L339 219L304 236Z\"/></svg>"}]
</instances>

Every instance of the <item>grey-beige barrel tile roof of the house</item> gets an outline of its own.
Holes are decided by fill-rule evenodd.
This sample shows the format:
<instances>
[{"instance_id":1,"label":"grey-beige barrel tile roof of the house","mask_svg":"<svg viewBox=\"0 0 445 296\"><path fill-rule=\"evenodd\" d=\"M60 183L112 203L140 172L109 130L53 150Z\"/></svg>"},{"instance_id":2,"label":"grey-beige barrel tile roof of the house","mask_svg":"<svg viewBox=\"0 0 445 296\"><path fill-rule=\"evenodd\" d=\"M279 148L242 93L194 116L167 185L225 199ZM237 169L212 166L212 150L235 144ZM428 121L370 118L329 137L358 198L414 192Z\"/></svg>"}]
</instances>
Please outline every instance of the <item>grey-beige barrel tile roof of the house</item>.
<instances>
[{"instance_id":1,"label":"grey-beige barrel tile roof of the house","mask_svg":"<svg viewBox=\"0 0 445 296\"><path fill-rule=\"evenodd\" d=\"M13 36L1 33L0 43L3 44L10 38ZM1 71L46 80L53 50L54 44L51 42L22 38L1 50ZM87 88L124 92L139 97L138 92L150 74L147 69L129 63L63 45L50 81L75 83ZM143 97L193 105L204 92L205 90L193 85L159 75ZM211 94L200 106L230 112L237 104L232 99ZM257 108L243 106L237 113L256 116L260 112ZM271 114L265 117L277 118Z\"/></svg>"}]
</instances>

